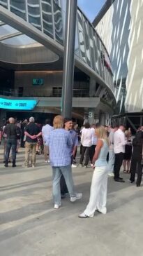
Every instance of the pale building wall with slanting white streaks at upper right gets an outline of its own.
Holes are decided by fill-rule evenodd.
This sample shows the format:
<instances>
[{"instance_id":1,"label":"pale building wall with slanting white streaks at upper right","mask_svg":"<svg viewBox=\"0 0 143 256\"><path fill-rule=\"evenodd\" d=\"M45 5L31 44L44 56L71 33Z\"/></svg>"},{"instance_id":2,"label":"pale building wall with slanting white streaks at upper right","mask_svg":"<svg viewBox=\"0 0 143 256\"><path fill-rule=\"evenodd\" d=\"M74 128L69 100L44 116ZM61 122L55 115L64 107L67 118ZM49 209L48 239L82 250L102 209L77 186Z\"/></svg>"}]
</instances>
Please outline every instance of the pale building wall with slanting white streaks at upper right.
<instances>
[{"instance_id":1,"label":"pale building wall with slanting white streaks at upper right","mask_svg":"<svg viewBox=\"0 0 143 256\"><path fill-rule=\"evenodd\" d=\"M115 0L96 30L110 53L120 111L142 111L143 1Z\"/></svg>"}]
</instances>

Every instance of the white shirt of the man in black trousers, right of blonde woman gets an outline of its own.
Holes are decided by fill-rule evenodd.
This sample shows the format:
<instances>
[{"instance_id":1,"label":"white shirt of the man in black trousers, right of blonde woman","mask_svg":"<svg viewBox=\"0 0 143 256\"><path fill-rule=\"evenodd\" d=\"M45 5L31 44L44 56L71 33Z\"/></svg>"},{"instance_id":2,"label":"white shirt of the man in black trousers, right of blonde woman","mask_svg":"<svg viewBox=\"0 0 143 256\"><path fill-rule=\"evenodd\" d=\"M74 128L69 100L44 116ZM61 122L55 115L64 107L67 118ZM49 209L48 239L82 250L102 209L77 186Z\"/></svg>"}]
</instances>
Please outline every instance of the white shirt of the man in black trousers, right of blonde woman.
<instances>
[{"instance_id":1,"label":"white shirt of the man in black trousers, right of blonde woman","mask_svg":"<svg viewBox=\"0 0 143 256\"><path fill-rule=\"evenodd\" d=\"M127 141L125 135L121 129L116 130L114 133L114 153L125 153L125 145Z\"/></svg>"}]
</instances>

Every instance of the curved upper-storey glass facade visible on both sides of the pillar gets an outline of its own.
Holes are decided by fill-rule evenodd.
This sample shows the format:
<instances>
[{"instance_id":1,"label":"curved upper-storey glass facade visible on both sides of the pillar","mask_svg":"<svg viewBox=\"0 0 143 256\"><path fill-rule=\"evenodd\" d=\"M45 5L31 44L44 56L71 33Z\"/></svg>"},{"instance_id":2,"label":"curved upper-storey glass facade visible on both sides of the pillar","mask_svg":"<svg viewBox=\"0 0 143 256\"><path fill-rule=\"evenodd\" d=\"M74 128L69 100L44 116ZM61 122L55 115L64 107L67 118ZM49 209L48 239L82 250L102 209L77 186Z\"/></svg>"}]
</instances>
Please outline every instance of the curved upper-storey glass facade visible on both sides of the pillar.
<instances>
[{"instance_id":1,"label":"curved upper-storey glass facade visible on both sides of the pillar","mask_svg":"<svg viewBox=\"0 0 143 256\"><path fill-rule=\"evenodd\" d=\"M63 45L65 20L65 2L62 0L0 0L0 5L8 8L20 18L31 23L44 34ZM62 8L61 8L62 7ZM1 26L3 27L3 26ZM1 32L0 27L0 32ZM20 39L22 35L18 35ZM2 43L15 41L6 39ZM75 55L95 71L107 83L114 93L112 68L107 50L91 22L77 8L77 24L75 35Z\"/></svg>"}]
</instances>

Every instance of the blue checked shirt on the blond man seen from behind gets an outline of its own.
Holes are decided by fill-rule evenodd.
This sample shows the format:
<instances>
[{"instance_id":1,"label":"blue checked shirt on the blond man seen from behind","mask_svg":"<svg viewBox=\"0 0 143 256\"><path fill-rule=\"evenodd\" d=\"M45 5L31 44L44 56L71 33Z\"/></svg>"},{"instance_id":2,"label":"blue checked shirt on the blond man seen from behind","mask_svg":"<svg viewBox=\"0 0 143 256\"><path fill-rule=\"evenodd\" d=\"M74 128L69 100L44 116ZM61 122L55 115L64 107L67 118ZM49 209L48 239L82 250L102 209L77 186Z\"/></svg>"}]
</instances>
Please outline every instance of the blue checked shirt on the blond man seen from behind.
<instances>
[{"instance_id":1,"label":"blue checked shirt on the blond man seen from behind","mask_svg":"<svg viewBox=\"0 0 143 256\"><path fill-rule=\"evenodd\" d=\"M70 149L73 146L73 142L68 130L63 128L54 129L45 140L50 149L51 166L69 166L71 163Z\"/></svg>"}]
</instances>

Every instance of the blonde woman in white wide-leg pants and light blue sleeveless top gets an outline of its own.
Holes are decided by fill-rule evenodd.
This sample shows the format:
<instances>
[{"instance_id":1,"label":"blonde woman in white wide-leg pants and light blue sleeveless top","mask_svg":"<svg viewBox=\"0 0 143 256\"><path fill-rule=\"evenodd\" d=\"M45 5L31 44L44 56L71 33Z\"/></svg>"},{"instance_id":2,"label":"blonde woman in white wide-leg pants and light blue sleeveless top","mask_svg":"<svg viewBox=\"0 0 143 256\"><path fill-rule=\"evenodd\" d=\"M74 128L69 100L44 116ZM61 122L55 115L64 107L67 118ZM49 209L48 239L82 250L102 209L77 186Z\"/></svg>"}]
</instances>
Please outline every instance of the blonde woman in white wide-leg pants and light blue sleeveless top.
<instances>
[{"instance_id":1,"label":"blonde woman in white wide-leg pants and light blue sleeveless top","mask_svg":"<svg viewBox=\"0 0 143 256\"><path fill-rule=\"evenodd\" d=\"M93 217L96 210L103 214L107 213L108 168L106 159L109 151L109 142L106 130L103 126L96 128L96 136L98 137L98 143L93 156L93 163L95 163L96 167L91 182L91 194L86 209L79 215L80 218Z\"/></svg>"}]
</instances>

